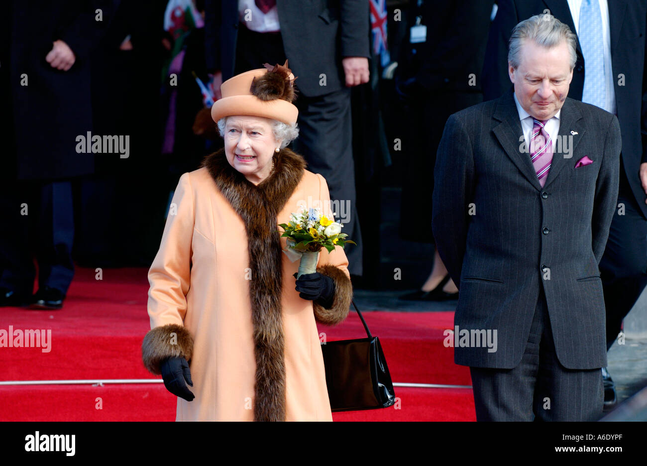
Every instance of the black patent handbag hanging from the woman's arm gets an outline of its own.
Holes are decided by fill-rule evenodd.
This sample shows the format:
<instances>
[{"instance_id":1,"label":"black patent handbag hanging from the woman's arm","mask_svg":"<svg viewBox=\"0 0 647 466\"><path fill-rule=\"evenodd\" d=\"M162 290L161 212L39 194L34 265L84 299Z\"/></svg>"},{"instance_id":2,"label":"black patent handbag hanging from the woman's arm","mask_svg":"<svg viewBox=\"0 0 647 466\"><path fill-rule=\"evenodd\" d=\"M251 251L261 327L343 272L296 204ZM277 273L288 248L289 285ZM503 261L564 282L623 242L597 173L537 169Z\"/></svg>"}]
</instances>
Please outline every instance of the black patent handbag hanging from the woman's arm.
<instances>
[{"instance_id":1,"label":"black patent handbag hanging from the woman's arm","mask_svg":"<svg viewBox=\"0 0 647 466\"><path fill-rule=\"evenodd\" d=\"M366 338L322 343L325 381L333 412L387 408L395 403L391 374L378 337L373 337L364 316Z\"/></svg>"}]
</instances>

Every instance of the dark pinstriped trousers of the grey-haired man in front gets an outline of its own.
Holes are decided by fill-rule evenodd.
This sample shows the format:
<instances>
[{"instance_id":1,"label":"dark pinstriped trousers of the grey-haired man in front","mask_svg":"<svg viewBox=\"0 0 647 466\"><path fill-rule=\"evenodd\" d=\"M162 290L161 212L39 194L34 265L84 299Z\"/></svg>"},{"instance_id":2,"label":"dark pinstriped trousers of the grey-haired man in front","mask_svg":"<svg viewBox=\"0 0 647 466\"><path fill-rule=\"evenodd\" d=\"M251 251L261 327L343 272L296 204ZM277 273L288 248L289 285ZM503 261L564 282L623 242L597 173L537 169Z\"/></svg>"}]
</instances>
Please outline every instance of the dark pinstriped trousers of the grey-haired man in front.
<instances>
[{"instance_id":1,"label":"dark pinstriped trousers of the grey-haired man in front","mask_svg":"<svg viewBox=\"0 0 647 466\"><path fill-rule=\"evenodd\" d=\"M601 371L560 364L543 291L520 364L470 367L470 373L477 421L597 421L602 416Z\"/></svg>"}]
</instances>

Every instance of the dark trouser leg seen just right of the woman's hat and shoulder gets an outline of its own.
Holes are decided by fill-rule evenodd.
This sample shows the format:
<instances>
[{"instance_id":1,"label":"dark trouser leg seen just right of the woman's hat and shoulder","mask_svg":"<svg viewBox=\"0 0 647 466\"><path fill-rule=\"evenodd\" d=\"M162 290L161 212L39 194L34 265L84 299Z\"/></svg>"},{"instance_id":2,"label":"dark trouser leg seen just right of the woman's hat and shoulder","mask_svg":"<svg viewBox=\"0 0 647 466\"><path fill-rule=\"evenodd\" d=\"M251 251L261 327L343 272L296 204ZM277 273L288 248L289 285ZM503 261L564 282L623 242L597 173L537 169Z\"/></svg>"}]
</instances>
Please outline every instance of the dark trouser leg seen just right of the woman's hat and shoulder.
<instances>
[{"instance_id":1,"label":"dark trouser leg seen just right of the woman's hat and shoulder","mask_svg":"<svg viewBox=\"0 0 647 466\"><path fill-rule=\"evenodd\" d=\"M357 243L345 249L348 271L361 276L362 232L356 210L351 89L317 97L301 95L296 106L299 137L293 143L294 151L305 157L308 170L325 178L335 220L344 222L342 233Z\"/></svg>"}]
</instances>

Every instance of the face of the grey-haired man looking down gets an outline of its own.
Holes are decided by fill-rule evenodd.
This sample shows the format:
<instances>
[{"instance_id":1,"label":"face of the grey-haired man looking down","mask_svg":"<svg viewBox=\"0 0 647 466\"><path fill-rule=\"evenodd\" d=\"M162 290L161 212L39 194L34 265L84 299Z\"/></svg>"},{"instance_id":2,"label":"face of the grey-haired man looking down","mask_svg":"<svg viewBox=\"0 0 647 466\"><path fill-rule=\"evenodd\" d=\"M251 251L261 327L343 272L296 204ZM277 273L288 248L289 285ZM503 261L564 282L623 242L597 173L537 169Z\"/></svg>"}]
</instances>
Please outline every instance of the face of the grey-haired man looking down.
<instances>
[{"instance_id":1,"label":"face of the grey-haired man looking down","mask_svg":"<svg viewBox=\"0 0 647 466\"><path fill-rule=\"evenodd\" d=\"M550 49L523 41L519 66L508 72L517 100L532 117L548 120L562 108L573 79L570 61L565 40Z\"/></svg>"}]
</instances>

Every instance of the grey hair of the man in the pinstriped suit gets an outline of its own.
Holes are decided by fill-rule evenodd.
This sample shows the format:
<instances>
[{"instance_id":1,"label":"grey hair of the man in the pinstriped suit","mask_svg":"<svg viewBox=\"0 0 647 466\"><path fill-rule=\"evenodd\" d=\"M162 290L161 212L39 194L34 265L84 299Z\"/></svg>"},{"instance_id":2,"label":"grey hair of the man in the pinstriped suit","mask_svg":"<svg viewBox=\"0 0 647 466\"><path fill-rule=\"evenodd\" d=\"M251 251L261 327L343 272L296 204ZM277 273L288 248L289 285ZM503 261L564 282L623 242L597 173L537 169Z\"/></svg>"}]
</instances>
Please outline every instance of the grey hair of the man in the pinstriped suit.
<instances>
[{"instance_id":1,"label":"grey hair of the man in the pinstriped suit","mask_svg":"<svg viewBox=\"0 0 647 466\"><path fill-rule=\"evenodd\" d=\"M508 47L508 61L514 69L520 65L521 45L527 40L534 41L537 45L550 49L566 41L571 55L571 70L577 61L576 47L577 36L571 28L551 14L538 14L524 21L512 29Z\"/></svg>"}]
</instances>

